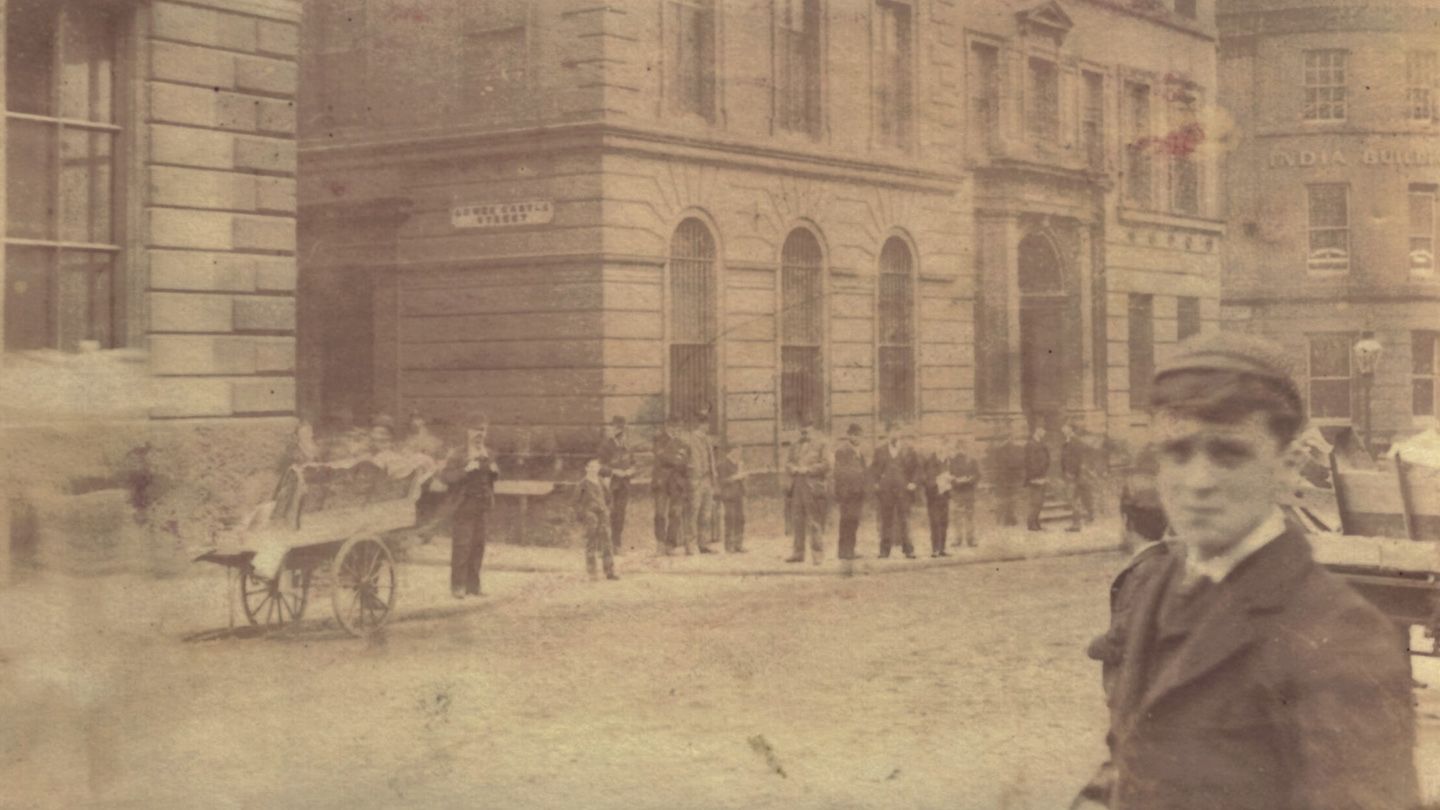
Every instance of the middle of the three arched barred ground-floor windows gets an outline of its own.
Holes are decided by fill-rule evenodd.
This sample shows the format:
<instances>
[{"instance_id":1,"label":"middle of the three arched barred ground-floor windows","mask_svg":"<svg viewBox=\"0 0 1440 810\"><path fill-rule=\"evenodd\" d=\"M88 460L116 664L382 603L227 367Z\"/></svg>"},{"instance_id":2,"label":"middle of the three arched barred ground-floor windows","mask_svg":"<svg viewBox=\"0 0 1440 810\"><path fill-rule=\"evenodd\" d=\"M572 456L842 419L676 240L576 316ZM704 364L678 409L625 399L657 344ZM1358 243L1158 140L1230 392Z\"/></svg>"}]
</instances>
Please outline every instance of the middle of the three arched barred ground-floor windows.
<instances>
[{"instance_id":1,"label":"middle of the three arched barred ground-floor windows","mask_svg":"<svg viewBox=\"0 0 1440 810\"><path fill-rule=\"evenodd\" d=\"M798 228L780 251L780 421L793 428L824 417L821 340L825 300L815 236Z\"/></svg>"}]
</instances>

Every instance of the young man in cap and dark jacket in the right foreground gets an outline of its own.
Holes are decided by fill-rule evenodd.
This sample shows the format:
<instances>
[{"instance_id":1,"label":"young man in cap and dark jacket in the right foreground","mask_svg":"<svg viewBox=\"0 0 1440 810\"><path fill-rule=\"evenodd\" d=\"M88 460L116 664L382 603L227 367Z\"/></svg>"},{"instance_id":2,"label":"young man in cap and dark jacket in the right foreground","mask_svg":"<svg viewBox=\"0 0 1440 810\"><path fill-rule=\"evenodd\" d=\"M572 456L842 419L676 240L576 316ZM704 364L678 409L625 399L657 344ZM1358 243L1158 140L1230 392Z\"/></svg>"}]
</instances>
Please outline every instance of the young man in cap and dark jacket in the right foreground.
<instances>
[{"instance_id":1,"label":"young man in cap and dark jacket in the right foreground","mask_svg":"<svg viewBox=\"0 0 1440 810\"><path fill-rule=\"evenodd\" d=\"M1269 343L1211 333L1156 373L1156 483L1185 553L1135 594L1113 780L1089 804L1418 806L1405 651L1276 506L1303 424L1287 369Z\"/></svg>"}]
</instances>

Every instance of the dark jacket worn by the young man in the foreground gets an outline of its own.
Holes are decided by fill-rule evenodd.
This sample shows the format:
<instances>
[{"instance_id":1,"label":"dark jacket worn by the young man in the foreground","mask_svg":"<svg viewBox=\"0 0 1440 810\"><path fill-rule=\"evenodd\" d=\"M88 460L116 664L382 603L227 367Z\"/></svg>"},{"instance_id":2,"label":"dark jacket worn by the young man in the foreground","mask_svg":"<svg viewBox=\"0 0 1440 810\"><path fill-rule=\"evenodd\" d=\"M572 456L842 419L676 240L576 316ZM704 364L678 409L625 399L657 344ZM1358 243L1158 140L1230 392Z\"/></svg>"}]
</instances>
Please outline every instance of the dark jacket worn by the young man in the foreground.
<instances>
[{"instance_id":1,"label":"dark jacket worn by the young man in the foreground","mask_svg":"<svg viewBox=\"0 0 1440 810\"><path fill-rule=\"evenodd\" d=\"M1407 810L1418 804L1410 670L1395 627L1296 528L1241 562L1151 672L1184 556L1136 594L1110 732L1119 810Z\"/></svg>"}]
</instances>

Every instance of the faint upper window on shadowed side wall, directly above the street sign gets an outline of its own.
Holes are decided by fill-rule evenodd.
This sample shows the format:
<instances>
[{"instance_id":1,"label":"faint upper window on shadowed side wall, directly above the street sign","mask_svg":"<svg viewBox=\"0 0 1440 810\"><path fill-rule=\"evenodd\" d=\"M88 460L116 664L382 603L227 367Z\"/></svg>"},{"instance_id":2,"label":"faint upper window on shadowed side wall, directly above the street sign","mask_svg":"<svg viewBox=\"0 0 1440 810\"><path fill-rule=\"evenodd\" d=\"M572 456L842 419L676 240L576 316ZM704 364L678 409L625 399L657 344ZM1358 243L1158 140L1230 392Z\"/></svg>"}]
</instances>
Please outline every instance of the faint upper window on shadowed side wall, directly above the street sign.
<instances>
[{"instance_id":1,"label":"faint upper window on shadowed side wall, directly above the street sign","mask_svg":"<svg viewBox=\"0 0 1440 810\"><path fill-rule=\"evenodd\" d=\"M461 102L504 111L526 91L526 3L467 0L461 37Z\"/></svg>"}]
</instances>

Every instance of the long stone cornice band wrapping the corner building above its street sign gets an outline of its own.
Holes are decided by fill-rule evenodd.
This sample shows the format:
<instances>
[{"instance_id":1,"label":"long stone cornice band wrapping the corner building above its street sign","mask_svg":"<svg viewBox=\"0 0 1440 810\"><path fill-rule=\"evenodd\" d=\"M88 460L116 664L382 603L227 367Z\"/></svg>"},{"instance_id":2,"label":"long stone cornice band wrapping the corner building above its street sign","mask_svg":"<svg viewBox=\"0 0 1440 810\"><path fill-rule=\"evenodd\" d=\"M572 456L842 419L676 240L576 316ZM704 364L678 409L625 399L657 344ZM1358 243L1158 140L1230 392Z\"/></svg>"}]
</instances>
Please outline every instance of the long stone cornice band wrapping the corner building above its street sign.
<instances>
[{"instance_id":1,"label":"long stone cornice band wrapping the corner building above its street sign","mask_svg":"<svg viewBox=\"0 0 1440 810\"><path fill-rule=\"evenodd\" d=\"M346 143L302 141L300 148L307 172L353 170L459 157L536 157L575 151L681 159L936 193L952 193L965 180L963 174L943 172L929 161L914 159L894 161L848 159L717 135L694 137L613 123L557 124L503 131L384 133Z\"/></svg>"}]
</instances>

